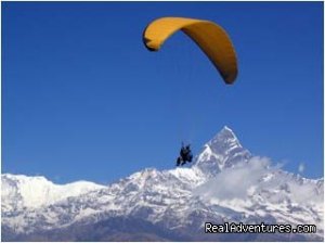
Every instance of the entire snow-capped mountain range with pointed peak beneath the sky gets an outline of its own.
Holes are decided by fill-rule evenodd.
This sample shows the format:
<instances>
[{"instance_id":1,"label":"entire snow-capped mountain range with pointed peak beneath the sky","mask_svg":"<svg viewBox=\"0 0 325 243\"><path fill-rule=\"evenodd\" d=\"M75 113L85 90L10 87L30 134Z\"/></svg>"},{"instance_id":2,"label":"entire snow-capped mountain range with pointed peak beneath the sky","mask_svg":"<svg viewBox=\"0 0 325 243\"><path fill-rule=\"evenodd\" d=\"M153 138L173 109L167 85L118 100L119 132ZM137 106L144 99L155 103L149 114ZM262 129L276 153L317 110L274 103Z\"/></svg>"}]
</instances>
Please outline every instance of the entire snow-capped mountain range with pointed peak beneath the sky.
<instances>
[{"instance_id":1,"label":"entire snow-capped mountain range with pointed peak beneath the sky","mask_svg":"<svg viewBox=\"0 0 325 243\"><path fill-rule=\"evenodd\" d=\"M190 168L135 172L116 183L54 184L2 175L4 241L323 241L324 180L252 156L224 127ZM205 222L315 225L310 234L206 234Z\"/></svg>"}]
</instances>

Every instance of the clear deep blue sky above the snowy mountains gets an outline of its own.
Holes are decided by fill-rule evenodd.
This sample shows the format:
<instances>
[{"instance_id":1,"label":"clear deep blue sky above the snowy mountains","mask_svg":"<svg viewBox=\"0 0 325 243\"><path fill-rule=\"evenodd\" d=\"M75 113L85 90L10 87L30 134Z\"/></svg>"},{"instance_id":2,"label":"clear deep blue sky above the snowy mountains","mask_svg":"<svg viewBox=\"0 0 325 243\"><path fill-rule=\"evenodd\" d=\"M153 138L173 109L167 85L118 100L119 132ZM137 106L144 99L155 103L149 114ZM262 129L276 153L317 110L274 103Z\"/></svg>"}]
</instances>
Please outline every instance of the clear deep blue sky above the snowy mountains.
<instances>
[{"instance_id":1,"label":"clear deep blue sky above the snowy mountains","mask_svg":"<svg viewBox=\"0 0 325 243\"><path fill-rule=\"evenodd\" d=\"M172 168L224 125L256 155L323 176L323 2L2 2L2 172L114 181ZM225 86L182 33L148 52L161 16L220 24L239 65Z\"/></svg>"}]
</instances>

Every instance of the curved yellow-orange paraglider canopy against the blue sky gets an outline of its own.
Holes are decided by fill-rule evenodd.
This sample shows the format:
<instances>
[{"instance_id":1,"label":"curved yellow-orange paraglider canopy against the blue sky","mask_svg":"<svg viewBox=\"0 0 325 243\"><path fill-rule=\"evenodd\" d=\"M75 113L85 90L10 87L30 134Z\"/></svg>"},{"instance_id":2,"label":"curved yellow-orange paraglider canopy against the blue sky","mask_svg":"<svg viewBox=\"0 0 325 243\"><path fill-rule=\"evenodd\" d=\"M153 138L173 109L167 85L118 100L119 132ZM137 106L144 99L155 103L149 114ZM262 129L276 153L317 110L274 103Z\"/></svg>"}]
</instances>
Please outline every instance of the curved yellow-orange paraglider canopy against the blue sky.
<instances>
[{"instance_id":1,"label":"curved yellow-orange paraglider canopy against the blue sky","mask_svg":"<svg viewBox=\"0 0 325 243\"><path fill-rule=\"evenodd\" d=\"M158 51L176 31L182 30L206 53L226 84L237 77L237 59L233 44L219 25L185 17L161 17L143 31L143 42L151 51Z\"/></svg>"}]
</instances>

